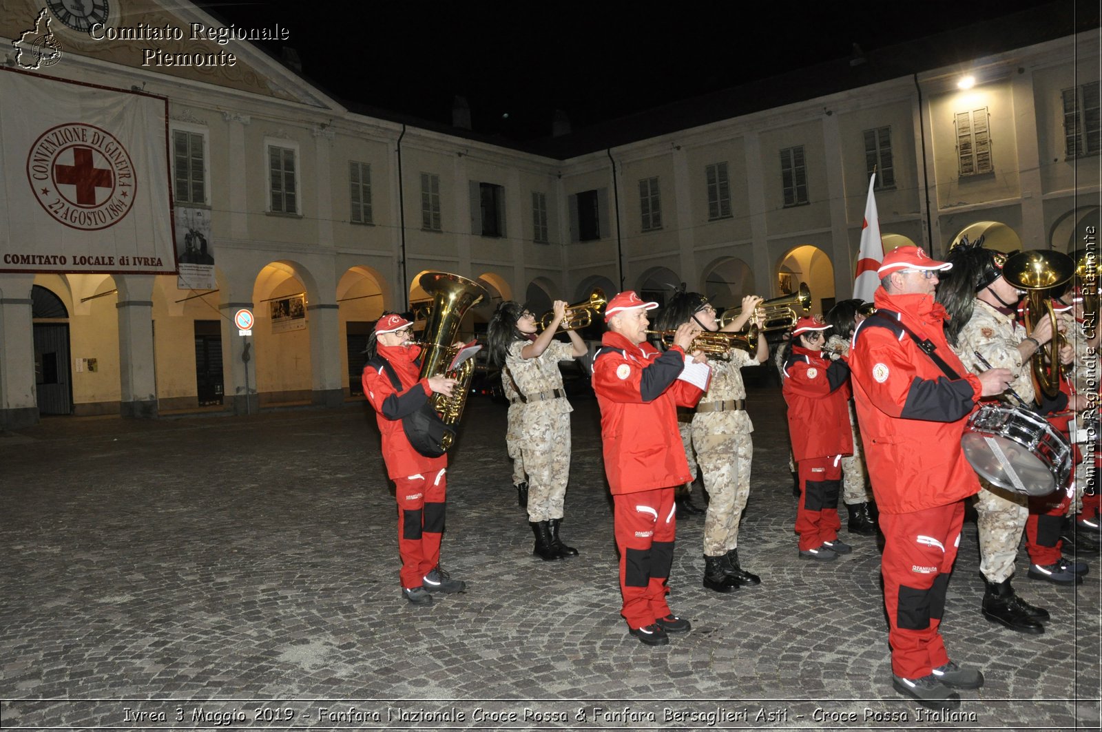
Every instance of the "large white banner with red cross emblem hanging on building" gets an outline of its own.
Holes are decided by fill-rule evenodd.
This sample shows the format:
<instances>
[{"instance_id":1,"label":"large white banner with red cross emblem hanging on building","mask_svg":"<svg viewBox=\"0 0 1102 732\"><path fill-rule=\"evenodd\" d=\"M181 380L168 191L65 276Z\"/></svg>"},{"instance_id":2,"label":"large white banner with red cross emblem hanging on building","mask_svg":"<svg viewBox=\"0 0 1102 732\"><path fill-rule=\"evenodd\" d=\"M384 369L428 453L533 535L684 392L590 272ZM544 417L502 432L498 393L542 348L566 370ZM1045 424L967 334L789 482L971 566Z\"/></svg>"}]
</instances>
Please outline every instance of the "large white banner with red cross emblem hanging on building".
<instances>
[{"instance_id":1,"label":"large white banner with red cross emblem hanging on building","mask_svg":"<svg viewBox=\"0 0 1102 732\"><path fill-rule=\"evenodd\" d=\"M176 271L168 101L0 68L0 271Z\"/></svg>"}]
</instances>

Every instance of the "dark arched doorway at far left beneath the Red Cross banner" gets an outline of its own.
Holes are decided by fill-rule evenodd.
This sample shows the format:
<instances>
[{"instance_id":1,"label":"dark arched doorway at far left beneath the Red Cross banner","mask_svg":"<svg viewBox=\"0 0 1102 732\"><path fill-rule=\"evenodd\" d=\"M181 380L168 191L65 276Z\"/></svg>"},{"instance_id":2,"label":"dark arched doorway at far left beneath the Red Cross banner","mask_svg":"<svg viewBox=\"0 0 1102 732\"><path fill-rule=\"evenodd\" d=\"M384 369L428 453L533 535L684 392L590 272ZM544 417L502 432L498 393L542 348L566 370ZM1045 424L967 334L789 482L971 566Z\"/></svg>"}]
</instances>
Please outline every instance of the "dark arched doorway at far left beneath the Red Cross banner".
<instances>
[{"instance_id":1,"label":"dark arched doorway at far left beneath the Red Cross banner","mask_svg":"<svg viewBox=\"0 0 1102 732\"><path fill-rule=\"evenodd\" d=\"M41 284L31 288L34 389L40 415L73 413L68 317L65 302L53 290Z\"/></svg>"}]
</instances>

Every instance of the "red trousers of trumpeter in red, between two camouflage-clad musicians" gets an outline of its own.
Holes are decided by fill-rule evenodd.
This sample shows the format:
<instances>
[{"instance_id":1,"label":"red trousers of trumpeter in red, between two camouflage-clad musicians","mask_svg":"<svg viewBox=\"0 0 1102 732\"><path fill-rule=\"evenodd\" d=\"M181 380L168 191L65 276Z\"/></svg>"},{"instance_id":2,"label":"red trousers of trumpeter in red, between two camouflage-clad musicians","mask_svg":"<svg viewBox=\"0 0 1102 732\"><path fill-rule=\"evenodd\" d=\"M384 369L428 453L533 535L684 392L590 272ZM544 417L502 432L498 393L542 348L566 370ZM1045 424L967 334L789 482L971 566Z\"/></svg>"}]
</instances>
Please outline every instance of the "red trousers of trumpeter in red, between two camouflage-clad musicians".
<instances>
[{"instance_id":1,"label":"red trousers of trumpeter in red, between two camouflage-clad musicians","mask_svg":"<svg viewBox=\"0 0 1102 732\"><path fill-rule=\"evenodd\" d=\"M628 627L651 625L670 614L666 595L673 566L673 487L613 495L620 552L620 615Z\"/></svg>"}]
</instances>

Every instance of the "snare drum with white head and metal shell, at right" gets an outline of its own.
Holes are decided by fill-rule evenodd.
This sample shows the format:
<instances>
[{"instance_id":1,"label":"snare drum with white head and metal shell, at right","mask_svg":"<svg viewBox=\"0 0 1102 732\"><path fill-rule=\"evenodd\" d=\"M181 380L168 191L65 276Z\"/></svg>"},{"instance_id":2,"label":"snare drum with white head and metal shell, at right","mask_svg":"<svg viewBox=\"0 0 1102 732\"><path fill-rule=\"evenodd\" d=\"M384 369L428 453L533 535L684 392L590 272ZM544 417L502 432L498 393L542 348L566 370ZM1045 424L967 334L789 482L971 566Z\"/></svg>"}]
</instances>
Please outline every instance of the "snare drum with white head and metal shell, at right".
<instances>
[{"instance_id":1,"label":"snare drum with white head and metal shell, at right","mask_svg":"<svg viewBox=\"0 0 1102 732\"><path fill-rule=\"evenodd\" d=\"M1067 484L1071 444L1044 417L1020 407L984 405L961 437L981 477L1007 491L1044 496Z\"/></svg>"}]
</instances>

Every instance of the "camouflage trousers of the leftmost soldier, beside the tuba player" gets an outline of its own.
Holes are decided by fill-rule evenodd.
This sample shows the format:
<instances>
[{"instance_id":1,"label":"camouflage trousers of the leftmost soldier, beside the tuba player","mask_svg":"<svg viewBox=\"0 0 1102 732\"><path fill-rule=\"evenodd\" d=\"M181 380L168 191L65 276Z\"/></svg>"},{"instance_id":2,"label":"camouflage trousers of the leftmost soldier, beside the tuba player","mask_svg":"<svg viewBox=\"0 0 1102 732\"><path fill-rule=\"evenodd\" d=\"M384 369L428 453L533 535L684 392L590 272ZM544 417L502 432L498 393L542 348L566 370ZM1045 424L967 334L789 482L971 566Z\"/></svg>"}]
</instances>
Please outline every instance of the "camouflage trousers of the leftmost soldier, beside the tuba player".
<instances>
[{"instance_id":1,"label":"camouflage trousers of the leftmost soldier, beside the tuba player","mask_svg":"<svg viewBox=\"0 0 1102 732\"><path fill-rule=\"evenodd\" d=\"M520 453L528 472L528 520L562 518L570 481L570 415L528 405L521 420Z\"/></svg>"}]
</instances>

